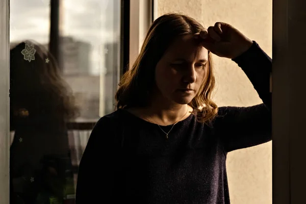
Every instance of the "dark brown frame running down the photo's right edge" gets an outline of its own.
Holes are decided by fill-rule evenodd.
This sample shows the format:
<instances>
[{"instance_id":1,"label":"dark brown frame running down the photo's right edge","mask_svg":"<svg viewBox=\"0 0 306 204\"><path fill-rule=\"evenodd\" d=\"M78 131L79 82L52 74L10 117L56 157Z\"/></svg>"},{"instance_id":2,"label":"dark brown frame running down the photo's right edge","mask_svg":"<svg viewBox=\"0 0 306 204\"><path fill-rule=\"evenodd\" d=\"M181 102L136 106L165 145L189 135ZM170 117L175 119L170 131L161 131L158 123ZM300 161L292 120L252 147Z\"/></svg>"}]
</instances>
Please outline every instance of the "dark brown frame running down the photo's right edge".
<instances>
[{"instance_id":1,"label":"dark brown frame running down the photo's right edge","mask_svg":"<svg viewBox=\"0 0 306 204\"><path fill-rule=\"evenodd\" d=\"M272 200L303 203L306 183L304 0L272 2Z\"/></svg>"}]
</instances>

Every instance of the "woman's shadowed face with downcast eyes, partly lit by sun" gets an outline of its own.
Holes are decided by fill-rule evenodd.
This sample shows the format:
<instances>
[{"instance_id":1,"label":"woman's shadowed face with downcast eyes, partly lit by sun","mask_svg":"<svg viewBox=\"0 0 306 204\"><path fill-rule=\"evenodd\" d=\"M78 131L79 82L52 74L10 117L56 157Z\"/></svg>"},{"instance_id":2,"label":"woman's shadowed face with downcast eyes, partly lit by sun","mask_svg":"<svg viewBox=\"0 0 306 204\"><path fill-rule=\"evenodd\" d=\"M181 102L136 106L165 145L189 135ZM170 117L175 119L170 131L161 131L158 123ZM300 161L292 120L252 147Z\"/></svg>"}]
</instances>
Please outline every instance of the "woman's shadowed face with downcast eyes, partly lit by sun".
<instances>
[{"instance_id":1,"label":"woman's shadowed face with downcast eyes, partly lit by sun","mask_svg":"<svg viewBox=\"0 0 306 204\"><path fill-rule=\"evenodd\" d=\"M171 103L190 103L205 79L207 63L208 50L191 34L177 38L156 66L159 93Z\"/></svg>"}]
</instances>

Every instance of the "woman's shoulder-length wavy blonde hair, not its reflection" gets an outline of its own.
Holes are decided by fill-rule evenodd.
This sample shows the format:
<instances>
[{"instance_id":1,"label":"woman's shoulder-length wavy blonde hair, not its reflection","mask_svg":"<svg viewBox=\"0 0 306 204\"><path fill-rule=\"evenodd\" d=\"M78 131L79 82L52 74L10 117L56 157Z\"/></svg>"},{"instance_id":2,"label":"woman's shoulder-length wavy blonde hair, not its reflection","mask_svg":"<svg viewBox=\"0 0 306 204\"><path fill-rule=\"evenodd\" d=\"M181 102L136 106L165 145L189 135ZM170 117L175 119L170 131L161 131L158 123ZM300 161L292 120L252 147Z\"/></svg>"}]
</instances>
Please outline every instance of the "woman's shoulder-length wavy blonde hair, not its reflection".
<instances>
[{"instance_id":1,"label":"woman's shoulder-length wavy blonde hair, not its reflection","mask_svg":"<svg viewBox=\"0 0 306 204\"><path fill-rule=\"evenodd\" d=\"M148 106L149 93L155 85L155 68L166 49L176 37L195 34L202 29L204 27L195 19L179 13L168 13L156 19L147 32L133 67L120 80L115 95L116 108ZM212 121L218 113L218 107L211 99L215 87L211 55L209 52L206 77L199 92L189 103L195 110L197 121L204 123Z\"/></svg>"}]
</instances>

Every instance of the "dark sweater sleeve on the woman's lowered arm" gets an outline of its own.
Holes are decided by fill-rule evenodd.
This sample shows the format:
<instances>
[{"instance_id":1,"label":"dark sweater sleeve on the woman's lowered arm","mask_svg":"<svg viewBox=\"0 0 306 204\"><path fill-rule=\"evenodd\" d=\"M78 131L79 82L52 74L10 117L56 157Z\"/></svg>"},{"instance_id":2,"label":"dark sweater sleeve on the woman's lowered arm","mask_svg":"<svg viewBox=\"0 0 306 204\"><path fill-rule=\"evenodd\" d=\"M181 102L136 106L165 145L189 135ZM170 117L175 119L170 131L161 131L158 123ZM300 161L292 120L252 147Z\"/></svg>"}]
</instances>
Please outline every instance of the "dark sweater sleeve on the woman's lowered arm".
<instances>
[{"instance_id":1,"label":"dark sweater sleeve on the woman's lowered arm","mask_svg":"<svg viewBox=\"0 0 306 204\"><path fill-rule=\"evenodd\" d=\"M104 116L91 132L79 166L76 204L111 203L116 149L110 125Z\"/></svg>"}]
</instances>

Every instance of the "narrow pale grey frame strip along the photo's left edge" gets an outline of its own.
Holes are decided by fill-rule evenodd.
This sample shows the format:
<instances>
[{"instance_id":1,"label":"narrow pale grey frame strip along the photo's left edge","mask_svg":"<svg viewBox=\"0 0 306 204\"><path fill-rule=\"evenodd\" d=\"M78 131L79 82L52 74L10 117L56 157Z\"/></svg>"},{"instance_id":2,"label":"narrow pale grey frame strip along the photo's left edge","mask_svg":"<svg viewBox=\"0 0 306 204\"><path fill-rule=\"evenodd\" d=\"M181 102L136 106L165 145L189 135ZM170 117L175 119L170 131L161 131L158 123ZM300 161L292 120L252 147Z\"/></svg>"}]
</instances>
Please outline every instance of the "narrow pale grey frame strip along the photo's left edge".
<instances>
[{"instance_id":1,"label":"narrow pale grey frame strip along the photo's left edge","mask_svg":"<svg viewBox=\"0 0 306 204\"><path fill-rule=\"evenodd\" d=\"M0 1L0 199L9 204L10 195L10 38L9 0Z\"/></svg>"}]
</instances>

